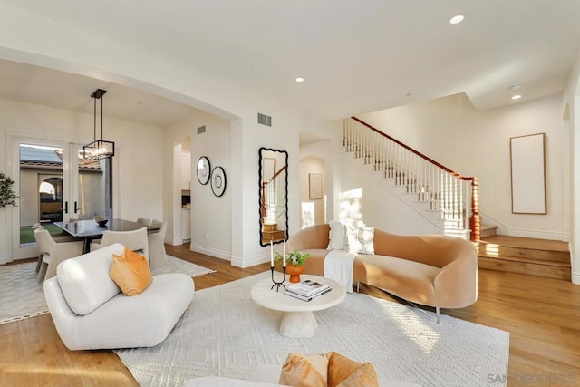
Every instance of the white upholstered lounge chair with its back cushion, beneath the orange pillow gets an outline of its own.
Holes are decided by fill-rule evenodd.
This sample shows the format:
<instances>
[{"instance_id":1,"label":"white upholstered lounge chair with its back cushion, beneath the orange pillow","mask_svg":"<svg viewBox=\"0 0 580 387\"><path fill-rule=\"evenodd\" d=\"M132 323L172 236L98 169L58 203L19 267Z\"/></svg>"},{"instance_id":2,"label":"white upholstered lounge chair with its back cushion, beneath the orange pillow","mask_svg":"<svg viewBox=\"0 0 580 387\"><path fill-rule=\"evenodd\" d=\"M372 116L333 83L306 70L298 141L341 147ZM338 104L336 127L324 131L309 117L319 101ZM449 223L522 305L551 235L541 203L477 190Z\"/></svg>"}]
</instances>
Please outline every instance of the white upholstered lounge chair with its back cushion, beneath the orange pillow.
<instances>
[{"instance_id":1,"label":"white upholstered lounge chair with its back cushion, beneath the orange pillow","mask_svg":"<svg viewBox=\"0 0 580 387\"><path fill-rule=\"evenodd\" d=\"M193 299L193 279L153 276L140 295L125 296L109 276L114 244L64 261L44 282L56 330L70 350L150 347L169 335Z\"/></svg>"}]
</instances>

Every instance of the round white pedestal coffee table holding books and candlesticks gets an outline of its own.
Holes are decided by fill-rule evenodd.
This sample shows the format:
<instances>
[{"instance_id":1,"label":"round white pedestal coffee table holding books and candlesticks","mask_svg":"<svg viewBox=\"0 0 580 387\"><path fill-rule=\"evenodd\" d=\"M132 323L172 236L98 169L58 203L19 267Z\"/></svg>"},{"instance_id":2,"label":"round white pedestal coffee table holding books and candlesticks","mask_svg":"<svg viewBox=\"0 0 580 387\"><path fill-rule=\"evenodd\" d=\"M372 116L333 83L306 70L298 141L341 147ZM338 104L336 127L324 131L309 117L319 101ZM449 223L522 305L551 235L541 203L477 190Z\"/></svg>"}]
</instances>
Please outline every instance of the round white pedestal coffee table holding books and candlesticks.
<instances>
[{"instance_id":1,"label":"round white pedestal coffee table holding books and candlesticks","mask_svg":"<svg viewBox=\"0 0 580 387\"><path fill-rule=\"evenodd\" d=\"M271 289L273 283L270 277L262 280L252 287L251 296L257 305L267 309L285 312L280 323L279 333L286 337L307 338L314 337L318 323L313 312L328 309L340 304L346 291L338 282L324 276L301 275L300 279L311 279L321 284L328 284L332 291L314 298L312 301L302 301L290 295L284 294L284 288L276 292L276 286ZM287 280L284 285L291 285Z\"/></svg>"}]
</instances>

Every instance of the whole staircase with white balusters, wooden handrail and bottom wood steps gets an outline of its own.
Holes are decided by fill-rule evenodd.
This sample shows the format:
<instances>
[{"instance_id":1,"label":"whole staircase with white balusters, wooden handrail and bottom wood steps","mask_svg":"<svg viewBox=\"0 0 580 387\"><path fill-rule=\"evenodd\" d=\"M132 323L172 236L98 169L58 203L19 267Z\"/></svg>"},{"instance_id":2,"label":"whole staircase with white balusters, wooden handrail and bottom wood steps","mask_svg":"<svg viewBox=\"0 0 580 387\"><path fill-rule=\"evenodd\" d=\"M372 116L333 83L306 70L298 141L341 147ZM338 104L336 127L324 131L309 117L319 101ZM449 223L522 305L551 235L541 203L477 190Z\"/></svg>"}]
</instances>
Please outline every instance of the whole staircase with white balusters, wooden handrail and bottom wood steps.
<instances>
[{"instance_id":1,"label":"whole staircase with white balusters, wooden handrail and bottom wood steps","mask_svg":"<svg viewBox=\"0 0 580 387\"><path fill-rule=\"evenodd\" d=\"M425 218L431 218L427 213L437 214L443 234L471 239L478 267L571 279L567 243L499 236L497 226L480 224L477 178L462 177L354 117L343 121L343 147L382 172L404 202L426 212Z\"/></svg>"}]
</instances>

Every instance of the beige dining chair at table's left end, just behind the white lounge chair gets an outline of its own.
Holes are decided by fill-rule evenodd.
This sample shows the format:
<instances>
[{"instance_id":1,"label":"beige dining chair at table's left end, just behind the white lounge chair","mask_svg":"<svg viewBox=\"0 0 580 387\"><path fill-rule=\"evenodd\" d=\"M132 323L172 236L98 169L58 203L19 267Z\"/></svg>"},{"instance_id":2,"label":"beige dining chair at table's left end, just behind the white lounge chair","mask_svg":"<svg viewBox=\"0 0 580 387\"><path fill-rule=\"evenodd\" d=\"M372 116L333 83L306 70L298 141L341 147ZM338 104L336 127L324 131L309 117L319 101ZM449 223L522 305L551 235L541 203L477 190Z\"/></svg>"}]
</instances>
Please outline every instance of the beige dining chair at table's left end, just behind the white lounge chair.
<instances>
[{"instance_id":1,"label":"beige dining chair at table's left end, just behind the white lounge chair","mask_svg":"<svg viewBox=\"0 0 580 387\"><path fill-rule=\"evenodd\" d=\"M82 256L82 241L56 243L48 230L37 228L34 239L42 256L38 270L38 282L43 282L56 276L56 267L65 259Z\"/></svg>"}]
</instances>

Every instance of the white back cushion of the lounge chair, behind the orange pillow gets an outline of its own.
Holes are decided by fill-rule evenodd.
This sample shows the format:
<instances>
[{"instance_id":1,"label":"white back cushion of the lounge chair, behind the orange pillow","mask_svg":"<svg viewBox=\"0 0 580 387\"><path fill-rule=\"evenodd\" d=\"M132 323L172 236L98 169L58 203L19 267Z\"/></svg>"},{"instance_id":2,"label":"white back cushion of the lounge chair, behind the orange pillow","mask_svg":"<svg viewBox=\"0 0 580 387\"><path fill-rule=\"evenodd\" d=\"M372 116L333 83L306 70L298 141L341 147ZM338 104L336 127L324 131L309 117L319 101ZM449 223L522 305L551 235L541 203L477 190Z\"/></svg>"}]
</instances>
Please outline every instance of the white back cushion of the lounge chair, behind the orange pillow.
<instances>
[{"instance_id":1,"label":"white back cushion of the lounge chair, behind the orange pillow","mask_svg":"<svg viewBox=\"0 0 580 387\"><path fill-rule=\"evenodd\" d=\"M67 259L56 268L58 284L75 314L90 314L121 291L109 276L109 270L112 255L122 256L124 249L117 243Z\"/></svg>"}]
</instances>

